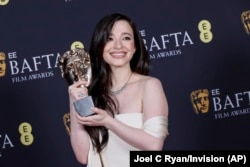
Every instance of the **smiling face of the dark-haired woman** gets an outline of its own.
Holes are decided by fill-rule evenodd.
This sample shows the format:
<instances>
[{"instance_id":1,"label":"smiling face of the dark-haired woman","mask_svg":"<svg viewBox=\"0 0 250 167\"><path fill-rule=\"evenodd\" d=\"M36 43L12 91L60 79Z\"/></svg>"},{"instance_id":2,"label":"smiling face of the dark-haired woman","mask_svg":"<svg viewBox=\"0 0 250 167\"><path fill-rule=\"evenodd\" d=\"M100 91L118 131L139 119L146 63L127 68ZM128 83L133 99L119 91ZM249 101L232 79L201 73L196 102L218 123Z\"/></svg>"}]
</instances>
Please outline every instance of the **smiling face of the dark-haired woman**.
<instances>
[{"instance_id":1,"label":"smiling face of the dark-haired woman","mask_svg":"<svg viewBox=\"0 0 250 167\"><path fill-rule=\"evenodd\" d=\"M135 50L133 30L128 22L115 22L103 50L104 60L111 67L129 66Z\"/></svg>"}]
</instances>

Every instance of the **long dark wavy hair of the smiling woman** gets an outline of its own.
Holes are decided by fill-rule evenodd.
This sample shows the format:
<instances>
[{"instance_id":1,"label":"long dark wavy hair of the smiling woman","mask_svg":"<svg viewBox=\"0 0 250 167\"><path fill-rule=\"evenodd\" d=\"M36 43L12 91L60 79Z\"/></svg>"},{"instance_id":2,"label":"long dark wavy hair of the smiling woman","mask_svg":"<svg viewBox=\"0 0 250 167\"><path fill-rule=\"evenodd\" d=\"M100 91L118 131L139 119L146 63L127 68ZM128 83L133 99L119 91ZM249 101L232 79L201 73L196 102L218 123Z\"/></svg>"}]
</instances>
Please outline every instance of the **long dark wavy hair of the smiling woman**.
<instances>
[{"instance_id":1,"label":"long dark wavy hair of the smiling woman","mask_svg":"<svg viewBox=\"0 0 250 167\"><path fill-rule=\"evenodd\" d=\"M148 75L149 55L135 23L127 16L113 13L103 17L96 25L90 43L90 58L92 65L92 81L89 85L89 94L93 97L95 106L108 112L114 117L117 106L110 95L111 68L104 61L103 50L107 43L113 25L118 20L125 20L133 30L136 51L130 61L133 72ZM101 152L108 142L108 130L105 127L85 127L97 152ZM101 135L101 139L100 139Z\"/></svg>"}]
</instances>

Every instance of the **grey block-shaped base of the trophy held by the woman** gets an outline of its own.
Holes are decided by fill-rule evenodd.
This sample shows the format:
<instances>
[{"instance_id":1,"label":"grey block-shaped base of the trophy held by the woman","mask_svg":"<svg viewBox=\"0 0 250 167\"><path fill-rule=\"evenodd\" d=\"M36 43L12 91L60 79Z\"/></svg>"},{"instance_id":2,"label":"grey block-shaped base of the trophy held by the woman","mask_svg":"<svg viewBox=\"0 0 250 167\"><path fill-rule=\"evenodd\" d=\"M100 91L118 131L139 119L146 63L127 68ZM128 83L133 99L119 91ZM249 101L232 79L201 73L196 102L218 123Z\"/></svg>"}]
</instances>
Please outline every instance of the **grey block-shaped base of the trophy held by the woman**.
<instances>
[{"instance_id":1,"label":"grey block-shaped base of the trophy held by the woman","mask_svg":"<svg viewBox=\"0 0 250 167\"><path fill-rule=\"evenodd\" d=\"M81 100L74 102L74 107L76 112L78 112L83 117L94 114L94 112L91 111L91 108L94 107L93 99L91 96L87 96Z\"/></svg>"}]
</instances>

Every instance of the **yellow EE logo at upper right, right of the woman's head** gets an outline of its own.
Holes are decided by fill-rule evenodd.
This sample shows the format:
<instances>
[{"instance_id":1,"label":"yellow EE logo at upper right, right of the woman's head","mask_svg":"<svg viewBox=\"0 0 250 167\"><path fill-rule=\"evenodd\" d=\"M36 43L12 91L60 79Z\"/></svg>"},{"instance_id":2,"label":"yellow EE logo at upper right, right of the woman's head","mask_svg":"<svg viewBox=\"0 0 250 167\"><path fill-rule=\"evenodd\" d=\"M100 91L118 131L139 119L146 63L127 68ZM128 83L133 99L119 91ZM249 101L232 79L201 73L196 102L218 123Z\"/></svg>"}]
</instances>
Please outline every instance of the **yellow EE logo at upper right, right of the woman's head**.
<instances>
[{"instance_id":1,"label":"yellow EE logo at upper right, right of the woman's head","mask_svg":"<svg viewBox=\"0 0 250 167\"><path fill-rule=\"evenodd\" d=\"M202 20L198 24L200 31L200 40L204 43L209 43L213 39L213 33L211 32L211 24L207 20Z\"/></svg>"}]
</instances>

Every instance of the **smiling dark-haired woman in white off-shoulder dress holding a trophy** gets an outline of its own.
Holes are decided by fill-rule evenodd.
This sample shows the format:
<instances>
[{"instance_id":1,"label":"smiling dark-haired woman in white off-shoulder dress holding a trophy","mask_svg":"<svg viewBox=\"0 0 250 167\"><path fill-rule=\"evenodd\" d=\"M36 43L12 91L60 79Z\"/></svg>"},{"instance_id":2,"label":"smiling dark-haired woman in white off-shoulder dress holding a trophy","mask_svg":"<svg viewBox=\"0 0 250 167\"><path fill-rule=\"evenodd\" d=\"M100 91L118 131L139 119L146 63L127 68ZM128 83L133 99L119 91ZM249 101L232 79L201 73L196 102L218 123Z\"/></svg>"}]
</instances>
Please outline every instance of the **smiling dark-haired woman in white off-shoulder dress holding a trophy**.
<instances>
[{"instance_id":1,"label":"smiling dark-haired woman in white off-shoulder dress holding a trophy","mask_svg":"<svg viewBox=\"0 0 250 167\"><path fill-rule=\"evenodd\" d=\"M96 25L89 53L91 83L69 86L70 137L77 160L89 167L128 167L130 150L162 150L168 104L161 82L147 76L149 56L135 24L119 13L105 16ZM88 95L95 114L81 117L73 102Z\"/></svg>"}]
</instances>

